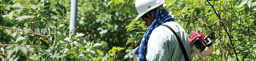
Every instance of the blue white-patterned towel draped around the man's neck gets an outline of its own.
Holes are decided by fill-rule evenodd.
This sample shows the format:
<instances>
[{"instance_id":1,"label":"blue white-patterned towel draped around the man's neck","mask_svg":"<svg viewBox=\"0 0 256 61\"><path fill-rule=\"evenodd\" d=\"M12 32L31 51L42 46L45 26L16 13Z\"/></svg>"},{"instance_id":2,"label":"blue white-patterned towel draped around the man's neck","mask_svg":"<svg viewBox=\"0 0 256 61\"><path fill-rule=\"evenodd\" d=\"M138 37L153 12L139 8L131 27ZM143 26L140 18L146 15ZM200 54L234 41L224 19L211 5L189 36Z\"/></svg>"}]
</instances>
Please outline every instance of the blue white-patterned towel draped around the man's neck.
<instances>
[{"instance_id":1,"label":"blue white-patterned towel draped around the man's neck","mask_svg":"<svg viewBox=\"0 0 256 61\"><path fill-rule=\"evenodd\" d=\"M143 38L141 40L141 45L133 52L135 57L139 61L145 60L146 57L146 51L147 51L147 42L148 37L150 37L151 32L156 29L159 25L163 24L164 22L174 21L174 17L169 15L168 11L165 9L159 10L157 17L156 17L156 11L157 9L153 9L153 15L154 15L154 21L152 24L148 27L146 30L146 33L143 35Z\"/></svg>"}]
</instances>

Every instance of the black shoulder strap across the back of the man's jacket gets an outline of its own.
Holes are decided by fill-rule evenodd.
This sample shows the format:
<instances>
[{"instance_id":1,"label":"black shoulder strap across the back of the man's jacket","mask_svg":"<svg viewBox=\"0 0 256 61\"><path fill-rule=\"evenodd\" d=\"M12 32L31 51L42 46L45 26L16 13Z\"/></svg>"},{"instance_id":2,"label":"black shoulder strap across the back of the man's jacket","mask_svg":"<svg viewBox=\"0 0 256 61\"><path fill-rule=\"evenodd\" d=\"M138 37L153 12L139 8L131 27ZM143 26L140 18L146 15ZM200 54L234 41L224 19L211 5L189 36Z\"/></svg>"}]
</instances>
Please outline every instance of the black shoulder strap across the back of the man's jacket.
<instances>
[{"instance_id":1,"label":"black shoulder strap across the back of the man's jacket","mask_svg":"<svg viewBox=\"0 0 256 61\"><path fill-rule=\"evenodd\" d=\"M166 25L166 24L162 24L162 25L160 25L160 26L168 27L168 28L173 32L173 34L176 36L176 38L177 38L177 40L178 40L178 42L179 42L179 46L181 47L181 50L182 50L182 53L183 53L183 56L184 56L185 60L186 60L186 61L189 61L188 54L187 54L187 52L186 52L186 50L185 50L185 48L184 48L184 46L183 46L183 44L182 44L182 42L181 42L179 36L176 34L176 32L175 32L171 27L169 27L169 26Z\"/></svg>"}]
</instances>

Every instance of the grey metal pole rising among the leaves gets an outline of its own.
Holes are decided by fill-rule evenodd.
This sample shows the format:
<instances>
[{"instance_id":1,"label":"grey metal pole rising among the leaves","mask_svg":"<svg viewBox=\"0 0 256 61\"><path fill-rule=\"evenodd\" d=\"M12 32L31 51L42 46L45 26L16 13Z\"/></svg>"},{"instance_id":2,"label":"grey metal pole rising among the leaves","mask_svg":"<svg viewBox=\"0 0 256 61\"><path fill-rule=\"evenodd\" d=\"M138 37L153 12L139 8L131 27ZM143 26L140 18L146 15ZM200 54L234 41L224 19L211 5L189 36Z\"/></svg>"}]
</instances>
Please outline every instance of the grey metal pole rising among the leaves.
<instances>
[{"instance_id":1,"label":"grey metal pole rising among the leaves","mask_svg":"<svg viewBox=\"0 0 256 61\"><path fill-rule=\"evenodd\" d=\"M69 30L73 31L72 33L74 33L74 35L76 35L76 29L74 29L74 27L77 28L77 2L78 2L78 0L71 0ZM71 34L71 33L69 32L69 34Z\"/></svg>"}]
</instances>

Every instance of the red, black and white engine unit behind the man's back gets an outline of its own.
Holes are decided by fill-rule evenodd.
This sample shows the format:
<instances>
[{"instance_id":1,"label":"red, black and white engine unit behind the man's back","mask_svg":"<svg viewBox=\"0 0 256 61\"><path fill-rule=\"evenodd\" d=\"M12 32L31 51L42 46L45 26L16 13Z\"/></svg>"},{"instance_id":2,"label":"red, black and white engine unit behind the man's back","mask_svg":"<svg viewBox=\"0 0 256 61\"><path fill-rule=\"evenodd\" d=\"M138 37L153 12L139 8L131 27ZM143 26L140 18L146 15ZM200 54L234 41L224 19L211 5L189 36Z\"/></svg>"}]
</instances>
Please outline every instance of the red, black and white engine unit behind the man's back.
<instances>
[{"instance_id":1,"label":"red, black and white engine unit behind the man's back","mask_svg":"<svg viewBox=\"0 0 256 61\"><path fill-rule=\"evenodd\" d=\"M208 35L204 35L200 30L192 34L190 38L190 44L192 47L190 59L195 57L195 55L201 55L203 58L209 56L213 50L214 45Z\"/></svg>"}]
</instances>

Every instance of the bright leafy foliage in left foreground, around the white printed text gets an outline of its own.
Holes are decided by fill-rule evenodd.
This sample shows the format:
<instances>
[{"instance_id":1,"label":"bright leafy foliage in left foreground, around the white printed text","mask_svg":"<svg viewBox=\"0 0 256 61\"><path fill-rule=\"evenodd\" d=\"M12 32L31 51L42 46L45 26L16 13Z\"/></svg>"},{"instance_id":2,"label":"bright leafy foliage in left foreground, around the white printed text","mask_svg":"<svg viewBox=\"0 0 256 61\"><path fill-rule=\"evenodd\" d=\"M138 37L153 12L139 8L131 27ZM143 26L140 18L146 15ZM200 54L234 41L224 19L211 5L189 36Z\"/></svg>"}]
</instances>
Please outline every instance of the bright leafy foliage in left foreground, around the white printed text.
<instances>
[{"instance_id":1,"label":"bright leafy foliage in left foreground, around the white printed text","mask_svg":"<svg viewBox=\"0 0 256 61\"><path fill-rule=\"evenodd\" d=\"M66 35L69 29L64 25L66 23L60 19L67 17L67 9L59 1L0 1L0 26L28 29L29 32L45 28L47 32L40 34L50 35L43 37L24 32L17 33L17 30L14 33L13 29L0 28L0 55L10 61L25 61L27 59L95 61L102 59L99 53L102 44L94 44L93 41L87 44L83 33ZM68 38L68 36L71 37Z\"/></svg>"}]
</instances>

